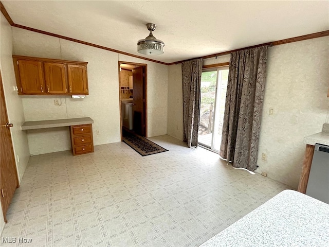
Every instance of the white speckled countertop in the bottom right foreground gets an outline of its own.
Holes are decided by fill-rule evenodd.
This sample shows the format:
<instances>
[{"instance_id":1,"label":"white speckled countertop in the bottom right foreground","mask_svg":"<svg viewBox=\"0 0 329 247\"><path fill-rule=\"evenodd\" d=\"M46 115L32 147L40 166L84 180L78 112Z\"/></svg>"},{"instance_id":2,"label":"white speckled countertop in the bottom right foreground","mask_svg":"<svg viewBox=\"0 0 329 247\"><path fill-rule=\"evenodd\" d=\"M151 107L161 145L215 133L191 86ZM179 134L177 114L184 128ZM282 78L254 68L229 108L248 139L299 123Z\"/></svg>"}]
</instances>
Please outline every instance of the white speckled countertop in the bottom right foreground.
<instances>
[{"instance_id":1,"label":"white speckled countertop in the bottom right foreground","mask_svg":"<svg viewBox=\"0 0 329 247\"><path fill-rule=\"evenodd\" d=\"M328 243L329 205L284 190L200 246L320 247Z\"/></svg>"}]
</instances>

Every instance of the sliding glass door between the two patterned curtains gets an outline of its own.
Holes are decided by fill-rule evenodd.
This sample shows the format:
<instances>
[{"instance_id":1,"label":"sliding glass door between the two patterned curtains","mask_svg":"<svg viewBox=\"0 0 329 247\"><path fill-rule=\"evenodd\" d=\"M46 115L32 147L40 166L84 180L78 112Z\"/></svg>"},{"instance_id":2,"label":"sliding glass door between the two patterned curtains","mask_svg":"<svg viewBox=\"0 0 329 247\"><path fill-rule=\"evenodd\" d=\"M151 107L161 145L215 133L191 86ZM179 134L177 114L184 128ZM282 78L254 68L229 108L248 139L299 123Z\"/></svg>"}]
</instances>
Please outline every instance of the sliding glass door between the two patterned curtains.
<instances>
[{"instance_id":1,"label":"sliding glass door between the two patterned curtains","mask_svg":"<svg viewBox=\"0 0 329 247\"><path fill-rule=\"evenodd\" d=\"M225 109L228 67L204 70L201 77L199 146L219 152Z\"/></svg>"}]
</instances>

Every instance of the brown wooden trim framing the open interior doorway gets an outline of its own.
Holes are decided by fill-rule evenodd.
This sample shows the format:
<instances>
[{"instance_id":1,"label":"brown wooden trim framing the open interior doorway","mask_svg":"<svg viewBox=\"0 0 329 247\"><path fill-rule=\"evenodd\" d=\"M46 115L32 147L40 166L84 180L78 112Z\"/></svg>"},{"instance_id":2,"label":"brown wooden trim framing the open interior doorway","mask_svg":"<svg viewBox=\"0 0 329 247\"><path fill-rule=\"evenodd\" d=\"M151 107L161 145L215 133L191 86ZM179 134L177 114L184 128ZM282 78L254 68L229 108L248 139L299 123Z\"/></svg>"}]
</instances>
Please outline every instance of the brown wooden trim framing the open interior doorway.
<instances>
[{"instance_id":1,"label":"brown wooden trim framing the open interior doorway","mask_svg":"<svg viewBox=\"0 0 329 247\"><path fill-rule=\"evenodd\" d=\"M119 74L119 109L120 109L120 137L122 142L122 109L121 109L121 89L120 89L120 64L131 64L131 65L139 65L145 68L145 77L144 77L144 96L145 96L145 103L144 103L144 122L145 122L145 137L148 137L148 64L146 63L135 63L135 62L125 62L125 61L118 61L118 74Z\"/></svg>"}]
</instances>

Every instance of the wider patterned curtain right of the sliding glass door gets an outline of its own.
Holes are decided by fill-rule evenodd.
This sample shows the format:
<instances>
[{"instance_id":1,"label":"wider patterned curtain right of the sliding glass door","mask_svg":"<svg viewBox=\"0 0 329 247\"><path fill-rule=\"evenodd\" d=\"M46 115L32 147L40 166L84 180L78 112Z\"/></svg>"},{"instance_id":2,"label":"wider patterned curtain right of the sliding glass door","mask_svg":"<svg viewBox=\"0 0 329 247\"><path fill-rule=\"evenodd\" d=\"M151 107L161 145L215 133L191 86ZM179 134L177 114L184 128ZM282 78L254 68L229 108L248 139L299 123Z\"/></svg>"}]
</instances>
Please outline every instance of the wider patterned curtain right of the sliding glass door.
<instances>
[{"instance_id":1,"label":"wider patterned curtain right of the sliding glass door","mask_svg":"<svg viewBox=\"0 0 329 247\"><path fill-rule=\"evenodd\" d=\"M231 54L220 155L234 167L257 169L267 47Z\"/></svg>"}]
</instances>

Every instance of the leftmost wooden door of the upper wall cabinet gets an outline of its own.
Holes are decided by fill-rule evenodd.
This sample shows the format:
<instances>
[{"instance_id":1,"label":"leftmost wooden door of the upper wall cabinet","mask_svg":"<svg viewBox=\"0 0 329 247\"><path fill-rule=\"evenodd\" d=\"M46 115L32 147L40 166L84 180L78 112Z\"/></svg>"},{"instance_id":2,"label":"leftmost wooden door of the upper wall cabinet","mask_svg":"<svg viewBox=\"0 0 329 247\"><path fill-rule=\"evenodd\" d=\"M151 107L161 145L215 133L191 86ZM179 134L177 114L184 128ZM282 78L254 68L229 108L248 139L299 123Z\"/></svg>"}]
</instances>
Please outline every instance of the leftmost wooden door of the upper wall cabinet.
<instances>
[{"instance_id":1,"label":"leftmost wooden door of the upper wall cabinet","mask_svg":"<svg viewBox=\"0 0 329 247\"><path fill-rule=\"evenodd\" d=\"M44 94L43 69L40 61L17 60L22 94Z\"/></svg>"}]
</instances>

